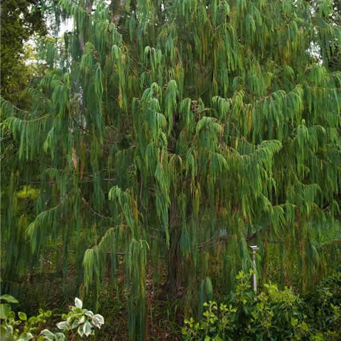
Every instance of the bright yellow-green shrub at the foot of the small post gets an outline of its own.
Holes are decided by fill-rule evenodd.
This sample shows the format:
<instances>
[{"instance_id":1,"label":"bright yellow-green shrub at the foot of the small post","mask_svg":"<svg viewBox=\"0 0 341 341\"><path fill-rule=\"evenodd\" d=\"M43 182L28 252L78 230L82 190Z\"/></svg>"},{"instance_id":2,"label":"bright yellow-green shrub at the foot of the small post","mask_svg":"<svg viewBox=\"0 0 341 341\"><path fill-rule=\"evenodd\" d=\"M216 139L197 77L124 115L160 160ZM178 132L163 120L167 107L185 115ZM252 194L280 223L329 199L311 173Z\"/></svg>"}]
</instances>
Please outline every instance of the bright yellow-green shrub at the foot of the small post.
<instances>
[{"instance_id":1,"label":"bright yellow-green shrub at the foot of the small post","mask_svg":"<svg viewBox=\"0 0 341 341\"><path fill-rule=\"evenodd\" d=\"M291 288L280 291L272 283L256 295L249 284L251 274L239 273L226 304L218 308L210 301L200 321L185 320L185 340L308 340L301 298Z\"/></svg>"}]
</instances>

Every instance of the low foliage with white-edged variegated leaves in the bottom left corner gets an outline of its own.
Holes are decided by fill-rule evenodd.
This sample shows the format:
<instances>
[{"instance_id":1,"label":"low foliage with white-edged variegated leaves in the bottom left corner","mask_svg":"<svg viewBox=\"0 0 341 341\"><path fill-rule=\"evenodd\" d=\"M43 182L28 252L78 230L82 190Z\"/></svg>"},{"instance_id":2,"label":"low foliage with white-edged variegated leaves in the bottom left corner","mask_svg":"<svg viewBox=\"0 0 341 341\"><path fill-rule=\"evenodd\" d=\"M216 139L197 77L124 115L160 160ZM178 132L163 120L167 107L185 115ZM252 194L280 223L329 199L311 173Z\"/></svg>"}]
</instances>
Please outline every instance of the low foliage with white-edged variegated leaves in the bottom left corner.
<instances>
[{"instance_id":1,"label":"low foliage with white-edged variegated leaves in the bottom left corner","mask_svg":"<svg viewBox=\"0 0 341 341\"><path fill-rule=\"evenodd\" d=\"M0 299L8 303L18 303L10 295L3 295ZM75 298L75 306L70 307L70 312L62 315L64 321L57 323L57 328L62 332L41 330L46 324L46 319L51 316L50 310L39 309L39 314L31 318L28 318L26 313L19 312L16 320L16 314L8 303L0 304L0 335L4 341L64 341L67 337L74 340L77 334L80 337L94 335L94 328L99 329L104 324L103 316L94 315L91 310L82 308L82 301L79 298ZM77 334L74 332L75 329Z\"/></svg>"}]
</instances>

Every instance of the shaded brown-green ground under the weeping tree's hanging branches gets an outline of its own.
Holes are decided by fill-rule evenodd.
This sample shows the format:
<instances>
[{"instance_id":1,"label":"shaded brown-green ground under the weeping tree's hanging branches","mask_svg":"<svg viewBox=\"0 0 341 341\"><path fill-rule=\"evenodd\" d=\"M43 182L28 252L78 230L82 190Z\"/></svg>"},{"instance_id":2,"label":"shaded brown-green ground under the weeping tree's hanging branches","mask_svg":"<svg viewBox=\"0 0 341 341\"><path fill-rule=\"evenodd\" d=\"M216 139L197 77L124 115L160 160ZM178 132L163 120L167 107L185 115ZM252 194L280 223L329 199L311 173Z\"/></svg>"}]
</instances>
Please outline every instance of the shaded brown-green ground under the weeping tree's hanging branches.
<instances>
[{"instance_id":1,"label":"shaded brown-green ground under the weeping tree's hanging branches","mask_svg":"<svg viewBox=\"0 0 341 341\"><path fill-rule=\"evenodd\" d=\"M124 273L120 268L117 273L117 288L111 288L107 283L99 295L97 312L104 316L105 323L102 330L97 331L92 340L128 340L128 310L126 306L129 296L124 285ZM72 267L67 272L64 296L62 295L63 281L61 274L58 273L45 272L11 282L12 294L21 303L17 307L18 310L25 311L28 316L35 315L38 308L52 310L53 318L48 321L48 328L53 330L55 323L60 321L61 314L67 312L68 305L73 304L75 298L75 277ZM164 290L165 280L166 274L161 278L160 287L153 288L152 272L151 269L148 269L148 340L181 340L183 300L180 297L172 297ZM85 295L83 298L85 308L90 308L92 305L90 301L89 295Z\"/></svg>"}]
</instances>

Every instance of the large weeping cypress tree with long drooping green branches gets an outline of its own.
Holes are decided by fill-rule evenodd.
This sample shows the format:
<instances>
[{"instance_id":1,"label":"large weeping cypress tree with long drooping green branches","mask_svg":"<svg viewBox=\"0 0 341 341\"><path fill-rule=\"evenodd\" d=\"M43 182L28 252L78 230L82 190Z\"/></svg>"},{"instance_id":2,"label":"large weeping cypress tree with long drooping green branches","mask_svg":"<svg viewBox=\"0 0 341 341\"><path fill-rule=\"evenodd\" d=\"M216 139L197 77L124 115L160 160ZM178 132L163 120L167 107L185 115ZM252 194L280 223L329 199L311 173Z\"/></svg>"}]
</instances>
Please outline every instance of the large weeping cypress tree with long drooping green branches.
<instances>
[{"instance_id":1,"label":"large weeping cypress tree with long drooping green branches","mask_svg":"<svg viewBox=\"0 0 341 341\"><path fill-rule=\"evenodd\" d=\"M185 288L189 309L227 293L269 249L303 292L340 243L340 27L331 1L60 0L64 42L31 110L1 102L4 278L59 246L96 296L124 253L129 333L146 330L146 275ZM320 51L318 55L315 50ZM16 192L39 190L36 217ZM34 183L34 184L32 184ZM55 249L53 249L55 250ZM200 302L198 302L200 301Z\"/></svg>"}]
</instances>

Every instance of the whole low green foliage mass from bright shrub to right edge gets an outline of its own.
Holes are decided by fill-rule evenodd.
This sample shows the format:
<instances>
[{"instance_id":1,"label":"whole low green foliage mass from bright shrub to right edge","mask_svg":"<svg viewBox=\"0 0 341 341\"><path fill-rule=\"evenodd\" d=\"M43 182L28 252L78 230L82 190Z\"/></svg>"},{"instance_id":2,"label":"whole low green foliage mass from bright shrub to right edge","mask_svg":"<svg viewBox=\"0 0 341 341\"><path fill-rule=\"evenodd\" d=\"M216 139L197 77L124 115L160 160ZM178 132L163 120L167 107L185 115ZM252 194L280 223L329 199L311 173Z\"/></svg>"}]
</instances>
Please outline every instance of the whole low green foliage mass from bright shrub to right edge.
<instances>
[{"instance_id":1,"label":"whole low green foliage mass from bright shrub to right edge","mask_svg":"<svg viewBox=\"0 0 341 341\"><path fill-rule=\"evenodd\" d=\"M340 273L331 276L312 293L310 300L264 284L251 290L250 274L237 276L237 286L224 303L204 303L203 318L185 319L184 340L338 340L340 338ZM330 293L326 283L336 292ZM339 283L337 283L339 282ZM324 292L322 292L324 291ZM321 302L323 299L323 302ZM330 303L334 300L335 305Z\"/></svg>"}]
</instances>

